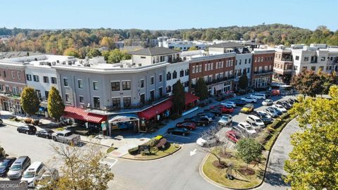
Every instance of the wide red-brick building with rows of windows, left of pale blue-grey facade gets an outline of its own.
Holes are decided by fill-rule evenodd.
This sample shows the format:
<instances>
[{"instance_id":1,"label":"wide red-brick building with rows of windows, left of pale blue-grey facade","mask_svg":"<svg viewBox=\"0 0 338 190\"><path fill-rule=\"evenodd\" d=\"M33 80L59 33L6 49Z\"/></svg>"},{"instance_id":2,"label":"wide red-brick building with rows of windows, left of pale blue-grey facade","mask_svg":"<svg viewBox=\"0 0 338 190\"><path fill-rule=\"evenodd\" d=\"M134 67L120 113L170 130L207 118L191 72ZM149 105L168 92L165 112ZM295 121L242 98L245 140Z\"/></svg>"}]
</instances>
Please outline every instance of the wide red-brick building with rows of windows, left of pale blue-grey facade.
<instances>
[{"instance_id":1,"label":"wide red-brick building with rows of windows, left of pale blue-grey facade","mask_svg":"<svg viewBox=\"0 0 338 190\"><path fill-rule=\"evenodd\" d=\"M236 53L222 53L213 56L194 56L189 58L189 91L199 78L204 78L208 94L217 96L232 90L234 62Z\"/></svg>"}]
</instances>

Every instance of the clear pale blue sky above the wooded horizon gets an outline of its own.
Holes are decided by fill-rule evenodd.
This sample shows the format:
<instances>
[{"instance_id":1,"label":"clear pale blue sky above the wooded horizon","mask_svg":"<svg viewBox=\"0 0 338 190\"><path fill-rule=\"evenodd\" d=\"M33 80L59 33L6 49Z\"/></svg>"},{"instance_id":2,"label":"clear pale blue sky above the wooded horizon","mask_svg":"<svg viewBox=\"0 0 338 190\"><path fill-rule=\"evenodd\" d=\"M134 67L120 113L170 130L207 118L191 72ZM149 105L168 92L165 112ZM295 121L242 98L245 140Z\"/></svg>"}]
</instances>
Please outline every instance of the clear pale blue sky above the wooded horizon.
<instances>
[{"instance_id":1,"label":"clear pale blue sky above the wooded horizon","mask_svg":"<svg viewBox=\"0 0 338 190\"><path fill-rule=\"evenodd\" d=\"M8 28L173 30L283 23L338 29L336 0L19 0L0 6L0 27Z\"/></svg>"}]
</instances>

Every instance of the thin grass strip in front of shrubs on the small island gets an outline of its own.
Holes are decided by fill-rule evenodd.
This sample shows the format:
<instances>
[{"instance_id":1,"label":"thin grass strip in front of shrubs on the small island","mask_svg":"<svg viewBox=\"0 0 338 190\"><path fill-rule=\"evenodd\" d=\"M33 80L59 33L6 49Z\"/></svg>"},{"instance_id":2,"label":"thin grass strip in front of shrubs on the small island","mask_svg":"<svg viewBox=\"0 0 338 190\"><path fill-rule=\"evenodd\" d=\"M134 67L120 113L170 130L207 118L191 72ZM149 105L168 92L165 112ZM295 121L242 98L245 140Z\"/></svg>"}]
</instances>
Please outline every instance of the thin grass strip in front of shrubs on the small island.
<instances>
[{"instance_id":1,"label":"thin grass strip in front of shrubs on the small island","mask_svg":"<svg viewBox=\"0 0 338 190\"><path fill-rule=\"evenodd\" d=\"M142 155L142 154L137 154L135 156L127 154L123 156L123 158L130 158L130 159L135 159L135 160L154 160L158 158L162 158L164 156L168 156L171 153L175 153L181 148L180 145L178 144L170 144L169 148L167 148L164 151L157 151L157 152L152 152L151 155Z\"/></svg>"}]
</instances>

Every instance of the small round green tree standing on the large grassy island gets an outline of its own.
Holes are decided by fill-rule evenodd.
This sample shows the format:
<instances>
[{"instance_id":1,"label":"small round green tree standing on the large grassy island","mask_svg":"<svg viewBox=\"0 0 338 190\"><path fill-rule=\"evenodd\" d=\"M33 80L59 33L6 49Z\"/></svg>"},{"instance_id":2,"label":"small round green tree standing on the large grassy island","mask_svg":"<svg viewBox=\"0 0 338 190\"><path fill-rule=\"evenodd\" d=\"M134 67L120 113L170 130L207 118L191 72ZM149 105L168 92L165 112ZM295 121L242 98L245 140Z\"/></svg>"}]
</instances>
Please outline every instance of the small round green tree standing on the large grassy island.
<instances>
[{"instance_id":1,"label":"small round green tree standing on the large grassy island","mask_svg":"<svg viewBox=\"0 0 338 190\"><path fill-rule=\"evenodd\" d=\"M262 154L261 144L252 138L239 140L236 144L236 149L237 156L246 163L246 170L248 169L248 164L259 158Z\"/></svg>"}]
</instances>

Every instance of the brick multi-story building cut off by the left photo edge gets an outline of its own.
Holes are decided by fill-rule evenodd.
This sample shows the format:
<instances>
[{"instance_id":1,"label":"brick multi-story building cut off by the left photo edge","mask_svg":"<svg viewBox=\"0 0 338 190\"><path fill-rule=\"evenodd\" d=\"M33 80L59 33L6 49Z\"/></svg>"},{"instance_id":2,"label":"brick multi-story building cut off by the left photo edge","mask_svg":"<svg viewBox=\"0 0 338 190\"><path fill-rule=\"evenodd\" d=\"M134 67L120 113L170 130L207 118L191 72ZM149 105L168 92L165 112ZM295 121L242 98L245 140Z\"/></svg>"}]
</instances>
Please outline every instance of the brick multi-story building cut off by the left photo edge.
<instances>
[{"instance_id":1,"label":"brick multi-story building cut off by the left photo edge","mask_svg":"<svg viewBox=\"0 0 338 190\"><path fill-rule=\"evenodd\" d=\"M0 108L13 113L24 113L20 94L26 86L25 65L9 59L0 60Z\"/></svg>"}]
</instances>

